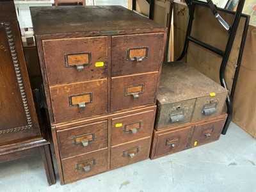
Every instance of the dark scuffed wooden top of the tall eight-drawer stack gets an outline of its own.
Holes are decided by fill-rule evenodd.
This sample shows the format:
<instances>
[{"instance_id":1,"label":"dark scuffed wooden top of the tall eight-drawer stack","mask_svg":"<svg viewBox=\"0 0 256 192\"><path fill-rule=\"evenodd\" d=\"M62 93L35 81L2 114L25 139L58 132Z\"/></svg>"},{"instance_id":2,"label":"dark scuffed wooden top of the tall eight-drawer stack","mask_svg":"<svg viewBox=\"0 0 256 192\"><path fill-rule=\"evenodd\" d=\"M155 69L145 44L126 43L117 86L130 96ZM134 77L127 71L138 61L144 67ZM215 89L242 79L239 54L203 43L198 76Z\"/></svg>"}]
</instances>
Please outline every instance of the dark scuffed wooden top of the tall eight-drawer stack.
<instances>
[{"instance_id":1,"label":"dark scuffed wooden top of the tall eight-drawer stack","mask_svg":"<svg viewBox=\"0 0 256 192\"><path fill-rule=\"evenodd\" d=\"M122 6L43 6L31 7L30 11L36 36L70 33L122 35L166 31L164 26Z\"/></svg>"}]
</instances>

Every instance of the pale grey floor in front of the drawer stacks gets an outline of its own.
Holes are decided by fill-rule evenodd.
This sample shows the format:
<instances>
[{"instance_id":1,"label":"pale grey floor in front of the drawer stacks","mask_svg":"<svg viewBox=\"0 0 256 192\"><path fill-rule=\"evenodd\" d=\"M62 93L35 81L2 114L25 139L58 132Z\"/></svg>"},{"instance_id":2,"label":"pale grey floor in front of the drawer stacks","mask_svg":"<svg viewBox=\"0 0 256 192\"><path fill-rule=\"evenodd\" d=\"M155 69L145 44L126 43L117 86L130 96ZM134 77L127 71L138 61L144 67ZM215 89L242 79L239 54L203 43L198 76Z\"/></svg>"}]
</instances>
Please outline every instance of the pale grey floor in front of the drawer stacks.
<instances>
[{"instance_id":1,"label":"pale grey floor in front of the drawer stacks","mask_svg":"<svg viewBox=\"0 0 256 192\"><path fill-rule=\"evenodd\" d=\"M40 156L0 164L0 191L256 191L256 140L231 124L219 141L60 185Z\"/></svg>"}]
</instances>

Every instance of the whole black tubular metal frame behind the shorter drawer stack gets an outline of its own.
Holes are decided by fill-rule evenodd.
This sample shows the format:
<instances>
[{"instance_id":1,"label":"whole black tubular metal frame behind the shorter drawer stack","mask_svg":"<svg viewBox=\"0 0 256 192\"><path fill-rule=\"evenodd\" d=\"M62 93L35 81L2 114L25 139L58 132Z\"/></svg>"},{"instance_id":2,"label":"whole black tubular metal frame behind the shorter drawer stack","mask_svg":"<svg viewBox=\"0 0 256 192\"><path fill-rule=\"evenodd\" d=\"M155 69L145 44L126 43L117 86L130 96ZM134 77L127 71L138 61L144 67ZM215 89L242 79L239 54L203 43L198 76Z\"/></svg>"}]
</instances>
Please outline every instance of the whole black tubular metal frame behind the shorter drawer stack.
<instances>
[{"instance_id":1,"label":"whole black tubular metal frame behind the shorter drawer stack","mask_svg":"<svg viewBox=\"0 0 256 192\"><path fill-rule=\"evenodd\" d=\"M217 49L216 47L212 47L209 44L205 44L204 42L202 42L200 40L197 40L196 38L194 38L193 36L190 35L191 34L191 28L192 28L192 25L193 25L195 6L198 5L198 6L205 6L207 8L211 8L209 6L209 4L204 3L202 1L185 0L186 4L188 5L188 8L189 8L188 29L187 29L187 32L186 32L186 39L185 39L184 49L183 49L182 53L180 54L180 56L177 60L182 60L182 58L184 58L184 56L186 55L186 52L188 51L188 45L189 45L190 41L204 47L205 49L208 49L209 51L212 51L212 52L222 56L223 59L221 61L221 67L220 67L220 82L221 82L221 86L223 86L224 88L227 88L227 83L225 81L225 69L227 67L228 58L230 56L232 45L233 45L233 42L234 42L234 39L235 39L235 36L236 36L237 27L239 25L239 21L240 21L241 17L244 17L246 19L245 24L244 24L243 36L242 36L242 39L241 39L240 51L239 51L238 60L237 60L236 72L235 72L234 81L233 81L233 84L232 84L232 90L230 92L230 95L227 96L227 100L226 100L228 117L227 117L227 120L225 122L225 125L224 125L224 128L223 128L221 134L226 134L227 133L228 126L229 126L229 124L232 120L232 99L234 97L234 92L235 92L235 89L236 89L237 77L238 77L239 68L240 68L240 65L241 65L245 39L246 39L248 26L249 26L250 16L242 14L244 1L245 0L240 0L239 1L238 5L237 5L237 11L236 12L232 12L230 10L224 10L224 9L215 7L216 11L221 10L221 12L226 12L226 13L230 13L230 14L234 15L234 20L233 20L232 26L227 31L227 33L229 33L229 36L228 36L228 42L227 42L226 49L225 49L225 51L221 51L220 49Z\"/></svg>"}]
</instances>

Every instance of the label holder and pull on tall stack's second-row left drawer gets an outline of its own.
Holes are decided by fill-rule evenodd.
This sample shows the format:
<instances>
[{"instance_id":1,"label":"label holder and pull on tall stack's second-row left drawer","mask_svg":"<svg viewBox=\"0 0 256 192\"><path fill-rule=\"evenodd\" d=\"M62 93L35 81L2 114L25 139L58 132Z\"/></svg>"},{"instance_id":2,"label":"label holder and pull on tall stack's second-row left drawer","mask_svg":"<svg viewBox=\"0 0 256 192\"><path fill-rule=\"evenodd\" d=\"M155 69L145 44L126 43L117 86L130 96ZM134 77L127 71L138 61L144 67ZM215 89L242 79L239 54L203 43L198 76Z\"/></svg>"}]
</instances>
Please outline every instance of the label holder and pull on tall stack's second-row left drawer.
<instances>
[{"instance_id":1,"label":"label holder and pull on tall stack's second-row left drawer","mask_svg":"<svg viewBox=\"0 0 256 192\"><path fill-rule=\"evenodd\" d=\"M86 104L92 103L92 93L83 93L79 95L70 95L69 96L69 106L78 106L79 110L83 110L86 107Z\"/></svg>"}]
</instances>

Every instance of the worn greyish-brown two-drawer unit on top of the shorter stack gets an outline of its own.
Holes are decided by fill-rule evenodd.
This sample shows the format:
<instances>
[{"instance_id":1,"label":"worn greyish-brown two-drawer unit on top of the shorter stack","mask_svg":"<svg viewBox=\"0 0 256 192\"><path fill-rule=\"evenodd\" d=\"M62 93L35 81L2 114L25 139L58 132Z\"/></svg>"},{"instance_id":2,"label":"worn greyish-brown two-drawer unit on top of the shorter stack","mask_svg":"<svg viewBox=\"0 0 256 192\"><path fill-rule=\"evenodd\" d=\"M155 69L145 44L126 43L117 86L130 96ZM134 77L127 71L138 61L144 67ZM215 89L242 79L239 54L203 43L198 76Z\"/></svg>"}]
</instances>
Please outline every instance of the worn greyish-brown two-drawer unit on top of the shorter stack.
<instances>
[{"instance_id":1,"label":"worn greyish-brown two-drawer unit on top of the shorter stack","mask_svg":"<svg viewBox=\"0 0 256 192\"><path fill-rule=\"evenodd\" d=\"M223 112L227 93L228 91L220 84L182 61L164 63L157 95L155 127L159 130L219 116ZM208 110L207 113L204 109ZM172 118L173 124L170 123Z\"/></svg>"}]
</instances>

